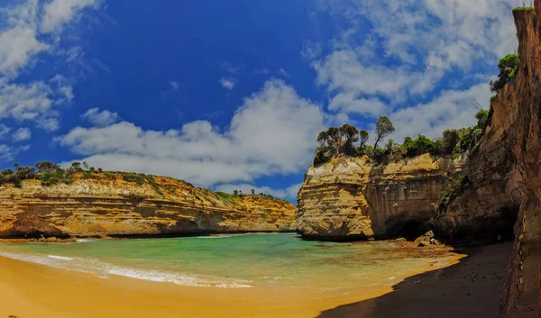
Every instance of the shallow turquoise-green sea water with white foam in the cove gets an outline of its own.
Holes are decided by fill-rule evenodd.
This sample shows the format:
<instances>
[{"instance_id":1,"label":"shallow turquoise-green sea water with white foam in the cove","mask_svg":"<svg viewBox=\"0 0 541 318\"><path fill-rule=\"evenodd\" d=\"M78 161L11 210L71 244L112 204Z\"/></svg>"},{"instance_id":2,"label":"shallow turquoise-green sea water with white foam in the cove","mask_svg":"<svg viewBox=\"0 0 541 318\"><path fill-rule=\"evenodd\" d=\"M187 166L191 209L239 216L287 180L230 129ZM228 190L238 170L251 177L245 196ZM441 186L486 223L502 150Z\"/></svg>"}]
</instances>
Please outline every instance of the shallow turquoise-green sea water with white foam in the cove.
<instances>
[{"instance_id":1,"label":"shallow turquoise-green sea water with white foam in the cove","mask_svg":"<svg viewBox=\"0 0 541 318\"><path fill-rule=\"evenodd\" d=\"M351 293L396 284L418 268L443 267L450 252L405 249L387 241L302 241L297 235L0 244L0 256L57 268L197 287L309 289Z\"/></svg>"}]
</instances>

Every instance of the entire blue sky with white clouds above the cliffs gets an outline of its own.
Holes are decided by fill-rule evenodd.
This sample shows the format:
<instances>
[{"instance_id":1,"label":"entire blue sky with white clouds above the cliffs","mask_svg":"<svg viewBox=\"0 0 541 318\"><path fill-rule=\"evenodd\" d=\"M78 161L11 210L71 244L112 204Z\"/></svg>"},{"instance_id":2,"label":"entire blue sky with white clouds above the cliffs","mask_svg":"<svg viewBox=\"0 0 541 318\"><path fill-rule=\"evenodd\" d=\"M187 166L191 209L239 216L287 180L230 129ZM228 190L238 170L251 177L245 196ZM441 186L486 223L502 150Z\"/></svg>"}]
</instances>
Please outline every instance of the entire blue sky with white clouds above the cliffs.
<instances>
[{"instance_id":1,"label":"entire blue sky with white clouds above the cliffs","mask_svg":"<svg viewBox=\"0 0 541 318\"><path fill-rule=\"evenodd\" d=\"M0 164L179 177L294 200L317 132L474 122L510 0L4 0Z\"/></svg>"}]
</instances>

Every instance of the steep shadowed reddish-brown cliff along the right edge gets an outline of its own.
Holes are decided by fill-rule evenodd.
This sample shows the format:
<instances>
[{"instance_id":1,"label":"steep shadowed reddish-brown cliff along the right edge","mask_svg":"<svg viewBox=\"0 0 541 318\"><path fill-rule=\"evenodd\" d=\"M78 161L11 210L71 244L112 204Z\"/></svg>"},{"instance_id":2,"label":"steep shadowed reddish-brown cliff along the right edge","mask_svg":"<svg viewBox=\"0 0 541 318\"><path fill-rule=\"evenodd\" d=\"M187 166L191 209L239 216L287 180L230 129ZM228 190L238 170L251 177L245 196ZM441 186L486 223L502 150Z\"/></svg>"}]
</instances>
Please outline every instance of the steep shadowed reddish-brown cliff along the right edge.
<instances>
[{"instance_id":1,"label":"steep shadowed reddish-brown cliff along the right edge","mask_svg":"<svg viewBox=\"0 0 541 318\"><path fill-rule=\"evenodd\" d=\"M482 215L518 212L501 309L509 312L528 304L541 317L541 305L535 305L541 294L541 15L533 11L514 15L518 75L492 103L491 127L468 164L471 186L439 224L460 228Z\"/></svg>"}]
</instances>

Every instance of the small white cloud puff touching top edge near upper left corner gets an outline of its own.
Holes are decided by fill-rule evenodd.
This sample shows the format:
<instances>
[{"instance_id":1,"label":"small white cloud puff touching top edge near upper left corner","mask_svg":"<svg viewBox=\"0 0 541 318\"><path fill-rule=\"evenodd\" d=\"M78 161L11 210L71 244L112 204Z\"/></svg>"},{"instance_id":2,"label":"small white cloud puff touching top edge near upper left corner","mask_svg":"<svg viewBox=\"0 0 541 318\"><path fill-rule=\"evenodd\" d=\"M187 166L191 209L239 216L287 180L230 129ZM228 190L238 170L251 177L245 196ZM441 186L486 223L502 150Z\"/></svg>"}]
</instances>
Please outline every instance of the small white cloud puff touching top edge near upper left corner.
<instances>
[{"instance_id":1,"label":"small white cloud puff touching top edge near upper left corner","mask_svg":"<svg viewBox=\"0 0 541 318\"><path fill-rule=\"evenodd\" d=\"M77 20L87 7L97 8L99 0L52 0L44 5L41 32L61 32L67 23Z\"/></svg>"}]
</instances>

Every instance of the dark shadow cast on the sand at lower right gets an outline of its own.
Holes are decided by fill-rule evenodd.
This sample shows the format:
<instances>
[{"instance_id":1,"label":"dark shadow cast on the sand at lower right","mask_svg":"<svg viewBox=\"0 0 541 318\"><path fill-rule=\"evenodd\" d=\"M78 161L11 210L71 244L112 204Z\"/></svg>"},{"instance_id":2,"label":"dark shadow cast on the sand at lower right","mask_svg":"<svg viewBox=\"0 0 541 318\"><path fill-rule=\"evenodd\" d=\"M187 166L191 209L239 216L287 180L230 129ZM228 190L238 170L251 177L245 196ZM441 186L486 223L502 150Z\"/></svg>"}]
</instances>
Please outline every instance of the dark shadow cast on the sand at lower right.
<instances>
[{"instance_id":1,"label":"dark shadow cast on the sand at lower right","mask_svg":"<svg viewBox=\"0 0 541 318\"><path fill-rule=\"evenodd\" d=\"M463 250L468 256L448 268L408 277L380 297L344 304L319 318L502 317L500 290L512 243ZM518 316L517 316L518 317ZM535 314L520 314L535 317Z\"/></svg>"}]
</instances>

